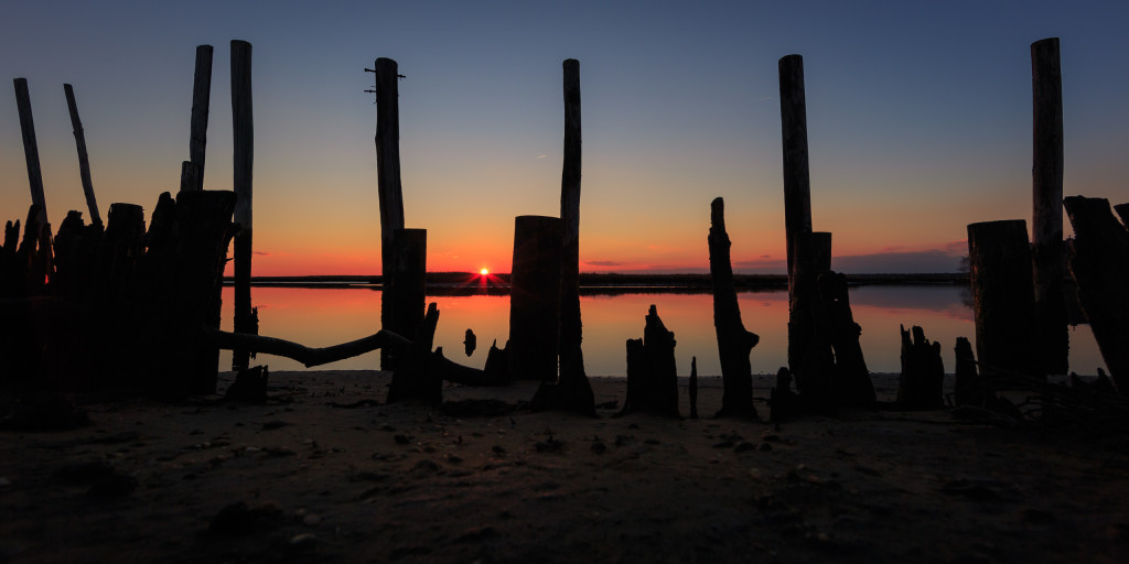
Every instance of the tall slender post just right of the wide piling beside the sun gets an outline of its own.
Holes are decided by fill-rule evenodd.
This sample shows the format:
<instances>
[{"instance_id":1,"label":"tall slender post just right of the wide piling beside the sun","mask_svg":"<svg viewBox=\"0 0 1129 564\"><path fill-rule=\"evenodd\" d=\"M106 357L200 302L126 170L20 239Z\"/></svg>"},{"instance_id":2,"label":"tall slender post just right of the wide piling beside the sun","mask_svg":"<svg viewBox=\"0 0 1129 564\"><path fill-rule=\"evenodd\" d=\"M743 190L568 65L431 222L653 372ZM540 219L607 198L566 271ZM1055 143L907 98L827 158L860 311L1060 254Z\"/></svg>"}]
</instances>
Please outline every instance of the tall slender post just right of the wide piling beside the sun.
<instances>
[{"instance_id":1,"label":"tall slender post just right of the wide piling beside the sun","mask_svg":"<svg viewBox=\"0 0 1129 564\"><path fill-rule=\"evenodd\" d=\"M595 396L584 371L580 323L580 62L567 59L564 74L564 159L561 167L561 327L559 399L562 407L595 413Z\"/></svg>"}]
</instances>

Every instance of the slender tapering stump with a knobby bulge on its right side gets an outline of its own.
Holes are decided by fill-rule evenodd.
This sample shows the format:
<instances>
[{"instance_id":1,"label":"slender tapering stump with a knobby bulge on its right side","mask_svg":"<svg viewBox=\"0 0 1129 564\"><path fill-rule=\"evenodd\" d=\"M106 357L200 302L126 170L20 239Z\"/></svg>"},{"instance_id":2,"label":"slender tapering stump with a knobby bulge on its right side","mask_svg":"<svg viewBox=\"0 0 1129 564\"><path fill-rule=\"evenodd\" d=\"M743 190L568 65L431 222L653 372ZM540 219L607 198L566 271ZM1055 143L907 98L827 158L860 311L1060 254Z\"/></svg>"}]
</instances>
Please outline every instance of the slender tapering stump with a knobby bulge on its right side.
<instances>
[{"instance_id":1,"label":"slender tapering stump with a knobby bulge on its right side","mask_svg":"<svg viewBox=\"0 0 1129 564\"><path fill-rule=\"evenodd\" d=\"M709 273L714 287L714 329L717 333L724 388L721 409L717 416L756 418L749 354L761 337L745 331L741 320L741 306L733 285L729 235L725 230L725 201L720 197L714 199L710 204L710 221L708 243Z\"/></svg>"}]
</instances>

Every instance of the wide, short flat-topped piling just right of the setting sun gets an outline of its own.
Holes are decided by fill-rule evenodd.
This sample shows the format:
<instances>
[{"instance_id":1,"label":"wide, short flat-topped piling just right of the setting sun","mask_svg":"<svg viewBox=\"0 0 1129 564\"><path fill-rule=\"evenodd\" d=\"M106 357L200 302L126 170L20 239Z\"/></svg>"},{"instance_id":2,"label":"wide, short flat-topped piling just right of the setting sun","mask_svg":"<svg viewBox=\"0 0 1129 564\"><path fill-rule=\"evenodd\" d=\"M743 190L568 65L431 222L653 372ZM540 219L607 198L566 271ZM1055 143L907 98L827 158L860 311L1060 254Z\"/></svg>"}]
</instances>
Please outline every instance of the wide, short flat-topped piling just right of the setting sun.
<instances>
[{"instance_id":1,"label":"wide, short flat-topped piling just right of the setting sun","mask_svg":"<svg viewBox=\"0 0 1129 564\"><path fill-rule=\"evenodd\" d=\"M561 220L518 215L509 292L509 373L554 381L560 327Z\"/></svg>"}]
</instances>

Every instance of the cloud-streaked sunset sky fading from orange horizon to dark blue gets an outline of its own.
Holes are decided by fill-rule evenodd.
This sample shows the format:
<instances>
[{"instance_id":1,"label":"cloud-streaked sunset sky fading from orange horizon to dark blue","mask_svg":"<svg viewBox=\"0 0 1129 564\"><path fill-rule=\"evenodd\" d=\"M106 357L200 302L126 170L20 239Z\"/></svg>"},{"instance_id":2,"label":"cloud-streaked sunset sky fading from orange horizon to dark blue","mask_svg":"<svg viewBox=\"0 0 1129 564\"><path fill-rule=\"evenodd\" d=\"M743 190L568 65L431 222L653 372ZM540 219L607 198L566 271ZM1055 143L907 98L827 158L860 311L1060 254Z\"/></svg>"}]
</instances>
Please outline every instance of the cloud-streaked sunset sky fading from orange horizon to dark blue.
<instances>
[{"instance_id":1,"label":"cloud-streaked sunset sky fading from orange horizon to dark blue","mask_svg":"<svg viewBox=\"0 0 1129 564\"><path fill-rule=\"evenodd\" d=\"M777 60L804 55L812 214L847 272L952 271L965 226L1031 217L1030 44L1061 38L1066 194L1129 201L1126 2L8 1L49 217L147 214L189 156L195 46L216 46L204 185L231 186L229 42L253 44L256 275L379 265L374 97L394 59L406 226L432 271L509 270L514 217L559 213L561 61L580 61L581 271L708 268L726 200L738 272L784 272ZM10 82L8 82L10 85ZM0 211L30 204L0 89Z\"/></svg>"}]
</instances>

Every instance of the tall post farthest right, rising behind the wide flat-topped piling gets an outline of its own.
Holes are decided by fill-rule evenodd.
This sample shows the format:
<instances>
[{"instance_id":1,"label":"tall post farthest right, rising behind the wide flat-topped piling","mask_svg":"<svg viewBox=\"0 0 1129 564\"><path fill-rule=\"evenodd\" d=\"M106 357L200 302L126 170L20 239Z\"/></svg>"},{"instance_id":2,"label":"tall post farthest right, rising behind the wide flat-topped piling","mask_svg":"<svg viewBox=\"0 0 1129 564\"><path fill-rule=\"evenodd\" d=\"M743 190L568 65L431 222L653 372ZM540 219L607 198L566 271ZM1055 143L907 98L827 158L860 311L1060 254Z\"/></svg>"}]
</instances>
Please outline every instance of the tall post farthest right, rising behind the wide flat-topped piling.
<instances>
[{"instance_id":1,"label":"tall post farthest right, rising behind the wide flat-topped piling","mask_svg":"<svg viewBox=\"0 0 1129 564\"><path fill-rule=\"evenodd\" d=\"M1045 370L1068 370L1069 334L1062 279L1062 72L1058 37L1031 44L1031 86L1034 108L1033 276L1038 351Z\"/></svg>"}]
</instances>

